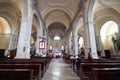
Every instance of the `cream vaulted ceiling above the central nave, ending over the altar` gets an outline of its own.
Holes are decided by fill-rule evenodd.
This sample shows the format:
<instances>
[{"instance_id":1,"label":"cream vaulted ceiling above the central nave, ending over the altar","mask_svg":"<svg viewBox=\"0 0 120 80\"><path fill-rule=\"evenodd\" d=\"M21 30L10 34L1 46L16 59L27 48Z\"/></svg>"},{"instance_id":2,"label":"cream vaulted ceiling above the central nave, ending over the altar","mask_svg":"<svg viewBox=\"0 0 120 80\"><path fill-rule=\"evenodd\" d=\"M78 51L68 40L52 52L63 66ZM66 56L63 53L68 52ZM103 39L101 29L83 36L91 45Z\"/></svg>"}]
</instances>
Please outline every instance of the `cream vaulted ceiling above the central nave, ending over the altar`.
<instances>
[{"instance_id":1,"label":"cream vaulted ceiling above the central nave, ending over the altar","mask_svg":"<svg viewBox=\"0 0 120 80\"><path fill-rule=\"evenodd\" d=\"M49 36L65 37L78 8L79 0L38 0Z\"/></svg>"}]
</instances>

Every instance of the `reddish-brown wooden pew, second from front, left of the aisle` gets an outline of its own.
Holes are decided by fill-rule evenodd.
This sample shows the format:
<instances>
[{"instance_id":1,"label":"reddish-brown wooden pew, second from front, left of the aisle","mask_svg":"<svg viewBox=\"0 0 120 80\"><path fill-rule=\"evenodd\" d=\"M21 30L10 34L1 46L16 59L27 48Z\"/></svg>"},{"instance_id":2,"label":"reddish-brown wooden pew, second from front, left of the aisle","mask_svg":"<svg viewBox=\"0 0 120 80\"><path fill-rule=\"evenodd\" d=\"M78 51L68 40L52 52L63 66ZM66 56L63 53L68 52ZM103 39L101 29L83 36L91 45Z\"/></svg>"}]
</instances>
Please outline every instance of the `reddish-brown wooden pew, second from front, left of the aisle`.
<instances>
[{"instance_id":1,"label":"reddish-brown wooden pew, second from front, left of the aisle","mask_svg":"<svg viewBox=\"0 0 120 80\"><path fill-rule=\"evenodd\" d=\"M41 80L40 64L0 64L0 69L30 69L33 70L33 78Z\"/></svg>"}]
</instances>

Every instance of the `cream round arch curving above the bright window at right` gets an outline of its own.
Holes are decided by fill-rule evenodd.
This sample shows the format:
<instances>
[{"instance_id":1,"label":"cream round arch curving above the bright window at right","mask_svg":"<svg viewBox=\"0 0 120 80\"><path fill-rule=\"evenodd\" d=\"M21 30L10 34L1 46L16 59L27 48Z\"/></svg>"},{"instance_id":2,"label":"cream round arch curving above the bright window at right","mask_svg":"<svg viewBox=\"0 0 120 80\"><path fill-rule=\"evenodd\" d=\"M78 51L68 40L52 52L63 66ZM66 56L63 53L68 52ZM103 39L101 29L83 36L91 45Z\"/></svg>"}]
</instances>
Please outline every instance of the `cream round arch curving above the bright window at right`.
<instances>
[{"instance_id":1,"label":"cream round arch curving above the bright window at right","mask_svg":"<svg viewBox=\"0 0 120 80\"><path fill-rule=\"evenodd\" d=\"M107 13L104 14L104 11L107 11ZM99 16L99 17L96 17L96 16ZM119 20L120 17L119 18L118 17L119 17L119 13L113 8L100 9L96 13L94 13L96 35L99 35L101 26L107 21L114 21L117 24L120 24L120 20Z\"/></svg>"}]
</instances>

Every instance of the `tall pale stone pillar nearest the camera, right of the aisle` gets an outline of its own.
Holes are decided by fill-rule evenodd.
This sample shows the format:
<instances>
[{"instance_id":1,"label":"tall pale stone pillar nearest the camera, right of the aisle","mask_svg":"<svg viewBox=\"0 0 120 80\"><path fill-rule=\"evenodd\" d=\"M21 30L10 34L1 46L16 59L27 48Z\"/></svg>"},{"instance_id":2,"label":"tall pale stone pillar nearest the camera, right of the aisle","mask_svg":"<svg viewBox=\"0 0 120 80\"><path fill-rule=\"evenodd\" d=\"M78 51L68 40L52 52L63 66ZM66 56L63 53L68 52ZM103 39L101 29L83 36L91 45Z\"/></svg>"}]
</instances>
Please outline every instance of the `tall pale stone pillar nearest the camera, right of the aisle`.
<instances>
[{"instance_id":1,"label":"tall pale stone pillar nearest the camera, right of the aisle","mask_svg":"<svg viewBox=\"0 0 120 80\"><path fill-rule=\"evenodd\" d=\"M88 28L89 28L89 38L90 38L90 51L91 57L94 59L98 59L97 48L96 48L96 39L94 32L94 23L93 23L93 6L95 0L90 1L89 10L88 10Z\"/></svg>"}]
</instances>

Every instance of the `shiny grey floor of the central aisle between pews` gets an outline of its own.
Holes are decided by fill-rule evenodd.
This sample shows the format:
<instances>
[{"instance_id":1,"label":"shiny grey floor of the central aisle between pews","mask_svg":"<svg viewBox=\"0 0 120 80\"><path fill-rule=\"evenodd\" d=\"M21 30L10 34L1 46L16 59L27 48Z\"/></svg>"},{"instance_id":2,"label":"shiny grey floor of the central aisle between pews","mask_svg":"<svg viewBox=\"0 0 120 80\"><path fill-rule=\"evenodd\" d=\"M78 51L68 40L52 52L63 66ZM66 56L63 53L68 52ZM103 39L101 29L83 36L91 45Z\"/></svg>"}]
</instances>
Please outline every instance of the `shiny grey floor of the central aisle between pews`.
<instances>
[{"instance_id":1,"label":"shiny grey floor of the central aisle between pews","mask_svg":"<svg viewBox=\"0 0 120 80\"><path fill-rule=\"evenodd\" d=\"M53 59L42 80L80 80L69 64L62 59Z\"/></svg>"}]
</instances>

